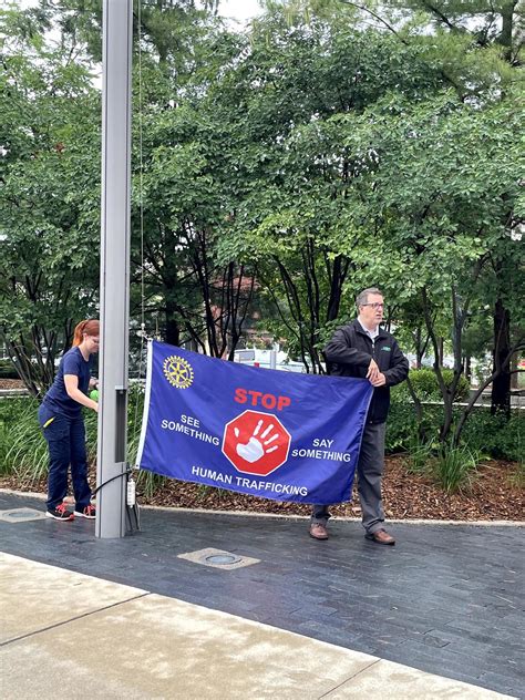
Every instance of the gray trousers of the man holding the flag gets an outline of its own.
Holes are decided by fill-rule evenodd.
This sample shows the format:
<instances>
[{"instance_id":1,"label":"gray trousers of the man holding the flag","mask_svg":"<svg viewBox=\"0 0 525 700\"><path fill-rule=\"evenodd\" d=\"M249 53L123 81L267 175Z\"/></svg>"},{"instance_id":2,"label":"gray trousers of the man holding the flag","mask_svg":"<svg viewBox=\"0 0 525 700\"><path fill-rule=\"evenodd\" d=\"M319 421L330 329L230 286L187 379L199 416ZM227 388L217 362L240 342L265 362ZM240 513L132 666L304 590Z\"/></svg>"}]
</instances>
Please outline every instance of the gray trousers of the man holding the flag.
<instances>
[{"instance_id":1,"label":"gray trousers of the man holding the flag","mask_svg":"<svg viewBox=\"0 0 525 700\"><path fill-rule=\"evenodd\" d=\"M375 533L384 523L381 500L381 477L384 469L385 423L367 423L361 441L357 474L361 502L362 524L367 533ZM328 505L313 505L311 522L326 525L330 513Z\"/></svg>"}]
</instances>

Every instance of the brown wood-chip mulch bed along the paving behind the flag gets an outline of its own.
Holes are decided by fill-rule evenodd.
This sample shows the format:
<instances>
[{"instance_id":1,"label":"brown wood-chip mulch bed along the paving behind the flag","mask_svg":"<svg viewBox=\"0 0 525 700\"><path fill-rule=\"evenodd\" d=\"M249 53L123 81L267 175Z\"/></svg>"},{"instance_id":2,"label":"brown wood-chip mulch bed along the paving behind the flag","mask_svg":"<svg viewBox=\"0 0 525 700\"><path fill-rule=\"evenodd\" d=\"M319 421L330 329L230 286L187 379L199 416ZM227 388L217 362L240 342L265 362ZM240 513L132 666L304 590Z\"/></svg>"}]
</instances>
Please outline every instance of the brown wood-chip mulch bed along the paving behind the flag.
<instances>
[{"instance_id":1,"label":"brown wood-chip mulch bed along the paving behind the flag","mask_svg":"<svg viewBox=\"0 0 525 700\"><path fill-rule=\"evenodd\" d=\"M525 490L517 484L518 465L490 461L482 464L469 490L446 494L430 477L410 474L404 457L387 457L383 478L384 509L389 518L447 521L523 521ZM522 476L523 480L523 476ZM91 483L95 483L92 474ZM0 478L0 487L18 491L45 491L45 483L21 484L13 477ZM310 507L246 496L244 494L166 480L151 497L141 493L138 503L167 507L207 508L213 511L250 511L280 515L309 515ZM359 517L359 500L332 508L333 515Z\"/></svg>"}]
</instances>

